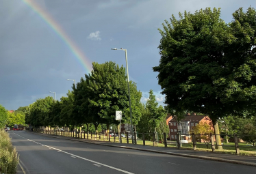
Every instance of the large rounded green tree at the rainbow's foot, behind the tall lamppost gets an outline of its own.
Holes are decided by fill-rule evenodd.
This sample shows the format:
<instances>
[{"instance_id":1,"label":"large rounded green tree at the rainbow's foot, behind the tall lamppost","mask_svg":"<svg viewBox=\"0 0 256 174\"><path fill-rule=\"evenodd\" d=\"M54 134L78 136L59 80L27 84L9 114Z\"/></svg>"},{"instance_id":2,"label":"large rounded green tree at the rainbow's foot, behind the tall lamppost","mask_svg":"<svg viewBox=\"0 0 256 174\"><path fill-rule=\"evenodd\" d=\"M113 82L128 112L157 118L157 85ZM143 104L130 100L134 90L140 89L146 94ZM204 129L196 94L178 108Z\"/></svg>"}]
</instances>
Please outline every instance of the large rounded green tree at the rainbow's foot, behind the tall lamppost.
<instances>
[{"instance_id":1,"label":"large rounded green tree at the rainbow's foot, behind the tall lamppost","mask_svg":"<svg viewBox=\"0 0 256 174\"><path fill-rule=\"evenodd\" d=\"M83 115L87 124L118 124L115 120L116 111L123 111L123 120L129 120L127 76L125 68L109 61L102 64L92 63L92 73L86 74L85 79L77 83L75 92L75 105L79 114ZM134 108L133 118L140 117L136 110L141 93L137 91L136 84L131 84L131 106ZM138 119L136 119L138 120Z\"/></svg>"}]
</instances>

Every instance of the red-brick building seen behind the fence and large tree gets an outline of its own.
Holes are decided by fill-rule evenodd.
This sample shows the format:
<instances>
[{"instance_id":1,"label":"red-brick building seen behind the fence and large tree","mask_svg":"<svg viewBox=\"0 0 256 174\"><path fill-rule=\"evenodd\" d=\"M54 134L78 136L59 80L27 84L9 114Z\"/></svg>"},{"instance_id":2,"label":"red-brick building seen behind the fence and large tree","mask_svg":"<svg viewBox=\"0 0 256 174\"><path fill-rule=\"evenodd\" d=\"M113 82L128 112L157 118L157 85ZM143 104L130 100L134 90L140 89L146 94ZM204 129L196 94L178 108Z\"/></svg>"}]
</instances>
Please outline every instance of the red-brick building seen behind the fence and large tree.
<instances>
[{"instance_id":1,"label":"red-brick building seen behind the fence and large tree","mask_svg":"<svg viewBox=\"0 0 256 174\"><path fill-rule=\"evenodd\" d=\"M170 118L171 117L171 118ZM183 119L179 122L177 121L176 116L167 116L168 126L169 126L169 136L170 140L176 141L177 140L177 133L181 134L181 140L188 140L190 141L190 133L194 126L197 126L199 123L207 123L211 126L212 130L214 130L214 126L212 124L212 120L209 119L207 115L196 115L193 113L190 115L188 113L185 115ZM166 119L166 122L167 122Z\"/></svg>"}]
</instances>

